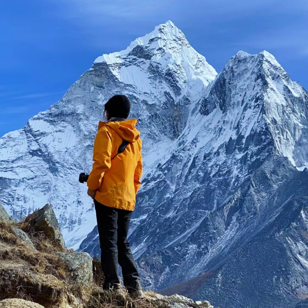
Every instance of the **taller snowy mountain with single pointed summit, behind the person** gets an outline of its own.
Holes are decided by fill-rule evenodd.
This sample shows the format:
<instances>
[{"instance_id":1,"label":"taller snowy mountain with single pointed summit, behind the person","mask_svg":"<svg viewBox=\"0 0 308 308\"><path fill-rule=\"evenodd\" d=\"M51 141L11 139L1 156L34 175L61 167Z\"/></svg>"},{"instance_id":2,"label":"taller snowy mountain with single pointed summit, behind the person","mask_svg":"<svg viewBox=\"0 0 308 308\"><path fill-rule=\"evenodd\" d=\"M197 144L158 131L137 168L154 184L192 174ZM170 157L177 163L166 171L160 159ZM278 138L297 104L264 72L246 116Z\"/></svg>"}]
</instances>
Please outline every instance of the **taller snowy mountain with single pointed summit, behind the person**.
<instances>
[{"instance_id":1,"label":"taller snowy mountain with single pointed summit, behind the person","mask_svg":"<svg viewBox=\"0 0 308 308\"><path fill-rule=\"evenodd\" d=\"M124 51L98 57L59 102L0 139L2 204L18 219L51 203L66 245L78 248L96 225L78 175L91 170L103 104L114 94L129 97L142 131L146 174L181 134L216 75L171 21Z\"/></svg>"}]
</instances>

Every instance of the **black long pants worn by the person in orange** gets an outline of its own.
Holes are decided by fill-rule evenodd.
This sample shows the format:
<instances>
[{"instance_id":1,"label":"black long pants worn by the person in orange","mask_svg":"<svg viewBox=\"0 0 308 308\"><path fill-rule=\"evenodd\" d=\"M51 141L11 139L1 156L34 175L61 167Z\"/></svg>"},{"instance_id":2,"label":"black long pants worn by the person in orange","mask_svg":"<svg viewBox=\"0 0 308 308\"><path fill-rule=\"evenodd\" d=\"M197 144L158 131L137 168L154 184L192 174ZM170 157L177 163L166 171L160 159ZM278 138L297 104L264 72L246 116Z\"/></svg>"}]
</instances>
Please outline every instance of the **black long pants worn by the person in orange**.
<instances>
[{"instance_id":1,"label":"black long pants worn by the person in orange","mask_svg":"<svg viewBox=\"0 0 308 308\"><path fill-rule=\"evenodd\" d=\"M140 276L136 269L134 257L127 233L132 211L115 209L94 200L99 242L101 248L102 270L105 275L105 290L120 284L118 263L122 267L123 283L128 291L140 290Z\"/></svg>"}]
</instances>

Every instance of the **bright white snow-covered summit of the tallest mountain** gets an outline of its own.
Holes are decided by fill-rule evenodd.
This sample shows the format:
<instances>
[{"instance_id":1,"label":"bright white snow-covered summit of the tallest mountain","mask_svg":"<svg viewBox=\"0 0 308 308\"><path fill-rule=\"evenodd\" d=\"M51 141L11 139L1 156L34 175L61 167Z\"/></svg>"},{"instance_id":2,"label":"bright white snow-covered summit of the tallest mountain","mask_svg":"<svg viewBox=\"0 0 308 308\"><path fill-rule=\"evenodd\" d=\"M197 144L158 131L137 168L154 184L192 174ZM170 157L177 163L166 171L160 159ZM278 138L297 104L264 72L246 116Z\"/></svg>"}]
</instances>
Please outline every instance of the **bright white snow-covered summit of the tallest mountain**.
<instances>
[{"instance_id":1,"label":"bright white snow-covered summit of the tallest mountain","mask_svg":"<svg viewBox=\"0 0 308 308\"><path fill-rule=\"evenodd\" d=\"M172 75L170 80L177 80L180 88L192 82L194 86L189 87L189 91L194 93L202 91L217 75L171 20L135 39L125 50L99 56L95 63L107 63L117 79L138 85L144 93L148 93L153 86L150 86L152 77L148 76L162 75L162 72L167 72L168 80Z\"/></svg>"}]
</instances>

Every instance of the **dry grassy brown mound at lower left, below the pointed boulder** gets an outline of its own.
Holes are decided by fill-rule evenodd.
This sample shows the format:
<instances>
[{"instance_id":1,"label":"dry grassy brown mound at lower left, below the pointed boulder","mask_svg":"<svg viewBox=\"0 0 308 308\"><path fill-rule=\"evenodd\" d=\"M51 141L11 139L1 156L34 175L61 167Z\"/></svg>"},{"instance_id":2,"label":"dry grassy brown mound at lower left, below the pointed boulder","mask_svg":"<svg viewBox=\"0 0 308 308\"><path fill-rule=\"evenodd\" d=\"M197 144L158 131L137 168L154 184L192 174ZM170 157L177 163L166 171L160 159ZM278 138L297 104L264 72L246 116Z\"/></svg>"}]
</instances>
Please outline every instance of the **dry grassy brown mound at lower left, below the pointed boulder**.
<instances>
[{"instance_id":1,"label":"dry grassy brown mound at lower left, below the pointed boulder","mask_svg":"<svg viewBox=\"0 0 308 308\"><path fill-rule=\"evenodd\" d=\"M19 223L0 221L0 299L22 298L54 307L70 291L67 266L45 234L31 232L28 222L28 217ZM36 249L13 228L25 231Z\"/></svg>"}]
</instances>

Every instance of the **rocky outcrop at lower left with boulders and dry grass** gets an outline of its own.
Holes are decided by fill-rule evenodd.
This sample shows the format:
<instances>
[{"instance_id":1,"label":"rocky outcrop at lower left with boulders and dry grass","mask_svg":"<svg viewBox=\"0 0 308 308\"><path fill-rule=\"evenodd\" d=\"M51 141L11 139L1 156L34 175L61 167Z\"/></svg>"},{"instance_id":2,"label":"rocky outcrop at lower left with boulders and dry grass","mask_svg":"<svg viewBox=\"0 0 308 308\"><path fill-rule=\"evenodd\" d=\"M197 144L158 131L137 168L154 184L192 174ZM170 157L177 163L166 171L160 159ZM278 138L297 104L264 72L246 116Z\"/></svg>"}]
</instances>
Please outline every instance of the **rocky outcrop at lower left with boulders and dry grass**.
<instances>
[{"instance_id":1,"label":"rocky outcrop at lower left with boulders and dry grass","mask_svg":"<svg viewBox=\"0 0 308 308\"><path fill-rule=\"evenodd\" d=\"M2 217L7 217L3 211ZM0 307L83 308L92 282L91 257L65 249L51 205L25 221L1 221L0 298L5 301ZM14 297L37 304L6 299Z\"/></svg>"}]
</instances>

